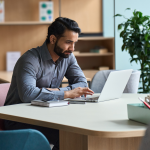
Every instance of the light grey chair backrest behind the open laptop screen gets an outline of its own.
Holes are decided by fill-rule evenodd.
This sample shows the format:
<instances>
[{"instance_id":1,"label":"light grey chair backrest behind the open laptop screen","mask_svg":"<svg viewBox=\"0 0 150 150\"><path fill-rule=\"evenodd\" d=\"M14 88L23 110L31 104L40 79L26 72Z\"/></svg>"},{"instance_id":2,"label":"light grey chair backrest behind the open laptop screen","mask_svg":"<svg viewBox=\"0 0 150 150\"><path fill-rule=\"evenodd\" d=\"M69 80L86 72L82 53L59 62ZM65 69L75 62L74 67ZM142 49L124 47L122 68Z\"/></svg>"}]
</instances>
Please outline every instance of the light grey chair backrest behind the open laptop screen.
<instances>
[{"instance_id":1,"label":"light grey chair backrest behind the open laptop screen","mask_svg":"<svg viewBox=\"0 0 150 150\"><path fill-rule=\"evenodd\" d=\"M95 93L101 93L111 71L116 70L103 70L95 74L91 82L91 89ZM133 71L123 93L137 93L139 80L140 71Z\"/></svg>"}]
</instances>

